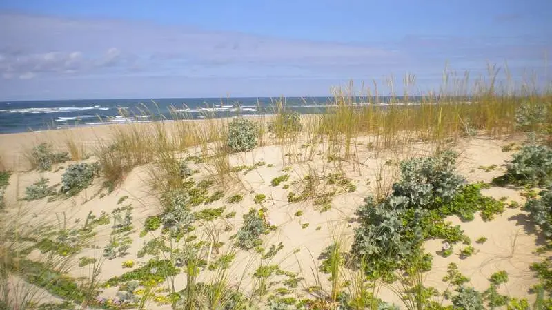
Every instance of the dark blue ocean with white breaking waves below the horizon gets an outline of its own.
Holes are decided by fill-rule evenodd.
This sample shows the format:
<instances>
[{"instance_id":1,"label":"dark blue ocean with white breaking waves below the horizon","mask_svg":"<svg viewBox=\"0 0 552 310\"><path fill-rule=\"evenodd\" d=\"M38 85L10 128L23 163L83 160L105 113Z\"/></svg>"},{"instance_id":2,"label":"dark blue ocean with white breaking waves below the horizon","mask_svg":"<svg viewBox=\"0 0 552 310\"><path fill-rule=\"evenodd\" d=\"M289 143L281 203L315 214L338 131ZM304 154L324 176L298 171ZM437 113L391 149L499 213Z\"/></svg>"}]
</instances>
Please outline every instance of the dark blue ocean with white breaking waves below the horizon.
<instances>
[{"instance_id":1,"label":"dark blue ocean with white breaking waves below the horizon","mask_svg":"<svg viewBox=\"0 0 552 310\"><path fill-rule=\"evenodd\" d=\"M383 105L389 100L389 97L378 98ZM328 97L285 98L286 108L302 114L324 111L330 101ZM179 114L178 118L190 119L273 114L274 105L275 99L270 98L3 101L0 102L0 134L110 123L170 121L175 112Z\"/></svg>"}]
</instances>

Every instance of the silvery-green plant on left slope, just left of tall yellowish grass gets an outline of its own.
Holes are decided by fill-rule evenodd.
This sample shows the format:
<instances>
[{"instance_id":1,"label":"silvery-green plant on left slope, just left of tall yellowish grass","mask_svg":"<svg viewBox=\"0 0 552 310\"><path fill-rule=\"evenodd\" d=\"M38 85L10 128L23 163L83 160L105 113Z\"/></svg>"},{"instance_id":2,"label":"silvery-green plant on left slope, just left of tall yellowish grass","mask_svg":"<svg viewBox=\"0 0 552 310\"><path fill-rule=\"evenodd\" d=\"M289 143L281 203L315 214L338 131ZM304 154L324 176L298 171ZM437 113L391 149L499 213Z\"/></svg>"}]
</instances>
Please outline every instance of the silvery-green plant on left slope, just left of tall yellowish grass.
<instances>
[{"instance_id":1,"label":"silvery-green plant on left slope, just left of tall yellowish grass","mask_svg":"<svg viewBox=\"0 0 552 310\"><path fill-rule=\"evenodd\" d=\"M99 173L98 163L78 163L70 165L61 176L61 192L75 195L92 184L92 180Z\"/></svg>"}]
</instances>

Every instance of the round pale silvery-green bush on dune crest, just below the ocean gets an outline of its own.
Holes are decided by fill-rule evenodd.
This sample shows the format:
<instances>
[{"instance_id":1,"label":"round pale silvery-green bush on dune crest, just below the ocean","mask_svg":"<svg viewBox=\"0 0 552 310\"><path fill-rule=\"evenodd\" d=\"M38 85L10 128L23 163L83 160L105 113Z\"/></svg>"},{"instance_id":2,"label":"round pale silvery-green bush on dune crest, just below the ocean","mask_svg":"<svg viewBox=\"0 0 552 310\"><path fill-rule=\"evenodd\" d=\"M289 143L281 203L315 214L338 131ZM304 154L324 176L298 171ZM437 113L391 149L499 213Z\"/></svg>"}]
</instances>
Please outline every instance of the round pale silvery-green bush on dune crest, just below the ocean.
<instances>
[{"instance_id":1,"label":"round pale silvery-green bush on dune crest, just below the ocean","mask_svg":"<svg viewBox=\"0 0 552 310\"><path fill-rule=\"evenodd\" d=\"M257 125L246 118L236 118L228 124L228 147L233 152L247 152L257 146Z\"/></svg>"}]
</instances>

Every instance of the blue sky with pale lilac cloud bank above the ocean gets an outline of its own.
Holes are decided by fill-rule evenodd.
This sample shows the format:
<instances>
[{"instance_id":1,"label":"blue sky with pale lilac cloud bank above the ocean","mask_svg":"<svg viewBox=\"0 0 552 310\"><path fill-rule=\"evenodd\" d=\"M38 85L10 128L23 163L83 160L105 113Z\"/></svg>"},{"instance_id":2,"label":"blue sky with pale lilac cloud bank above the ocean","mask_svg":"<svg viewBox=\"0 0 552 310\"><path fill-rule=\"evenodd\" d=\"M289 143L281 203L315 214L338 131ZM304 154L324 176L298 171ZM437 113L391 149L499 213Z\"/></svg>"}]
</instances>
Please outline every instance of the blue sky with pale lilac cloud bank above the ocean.
<instances>
[{"instance_id":1,"label":"blue sky with pale lilac cloud bank above the ocean","mask_svg":"<svg viewBox=\"0 0 552 310\"><path fill-rule=\"evenodd\" d=\"M327 96L348 81L386 95L405 74L415 94L438 90L445 68L475 80L488 64L549 81L550 12L549 0L0 0L0 100Z\"/></svg>"}]
</instances>

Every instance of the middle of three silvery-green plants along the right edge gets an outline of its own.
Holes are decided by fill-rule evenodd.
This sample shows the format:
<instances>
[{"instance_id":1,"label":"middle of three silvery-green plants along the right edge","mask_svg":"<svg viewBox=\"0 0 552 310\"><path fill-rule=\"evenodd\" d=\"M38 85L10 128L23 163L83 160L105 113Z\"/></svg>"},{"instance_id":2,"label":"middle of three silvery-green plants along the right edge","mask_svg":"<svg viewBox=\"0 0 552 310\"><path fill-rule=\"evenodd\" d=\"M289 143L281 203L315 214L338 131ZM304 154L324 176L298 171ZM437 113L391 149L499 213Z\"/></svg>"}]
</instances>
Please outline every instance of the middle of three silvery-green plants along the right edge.
<instances>
[{"instance_id":1,"label":"middle of three silvery-green plants along the right edge","mask_svg":"<svg viewBox=\"0 0 552 310\"><path fill-rule=\"evenodd\" d=\"M512 155L507 176L520 185L547 185L552 180L552 149L545 145L524 145Z\"/></svg>"}]
</instances>

